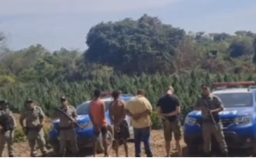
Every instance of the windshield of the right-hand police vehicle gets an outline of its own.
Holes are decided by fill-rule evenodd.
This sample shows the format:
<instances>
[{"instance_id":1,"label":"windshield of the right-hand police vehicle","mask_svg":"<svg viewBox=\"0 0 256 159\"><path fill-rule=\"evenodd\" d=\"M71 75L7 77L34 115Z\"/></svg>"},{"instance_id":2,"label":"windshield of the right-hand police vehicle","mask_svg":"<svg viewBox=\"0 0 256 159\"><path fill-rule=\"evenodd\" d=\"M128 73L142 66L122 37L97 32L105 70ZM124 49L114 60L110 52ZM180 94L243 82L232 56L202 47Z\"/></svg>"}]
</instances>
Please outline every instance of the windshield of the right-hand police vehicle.
<instances>
[{"instance_id":1,"label":"windshield of the right-hand police vehicle","mask_svg":"<svg viewBox=\"0 0 256 159\"><path fill-rule=\"evenodd\" d=\"M218 93L224 107L251 107L253 105L252 93Z\"/></svg>"}]
</instances>

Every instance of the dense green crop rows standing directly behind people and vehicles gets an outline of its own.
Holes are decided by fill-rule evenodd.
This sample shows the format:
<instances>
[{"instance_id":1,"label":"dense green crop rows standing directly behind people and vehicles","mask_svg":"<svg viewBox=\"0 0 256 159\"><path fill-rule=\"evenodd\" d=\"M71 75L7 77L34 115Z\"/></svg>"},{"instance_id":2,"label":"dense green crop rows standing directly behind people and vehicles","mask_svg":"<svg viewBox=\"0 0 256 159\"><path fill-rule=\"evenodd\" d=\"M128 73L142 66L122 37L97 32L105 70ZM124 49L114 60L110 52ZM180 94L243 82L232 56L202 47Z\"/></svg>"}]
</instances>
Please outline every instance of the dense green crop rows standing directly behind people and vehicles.
<instances>
[{"instance_id":1,"label":"dense green crop rows standing directly behind people and vehicles","mask_svg":"<svg viewBox=\"0 0 256 159\"><path fill-rule=\"evenodd\" d=\"M256 75L211 75L204 72L192 72L182 76L142 74L131 77L121 75L72 83L46 81L45 83L27 83L3 88L0 90L0 97L9 100L12 110L15 112L20 112L24 107L24 101L27 98L32 98L43 108L47 115L51 115L54 108L60 105L59 97L65 95L71 105L77 106L90 99L95 88L106 91L119 89L123 93L131 94L135 94L138 88L142 88L146 91L146 96L152 102L153 107L155 107L157 100L165 93L166 88L173 85L175 92L180 97L182 112L186 114L190 111L189 106L197 100L202 83L239 80L256 81Z\"/></svg>"}]
</instances>

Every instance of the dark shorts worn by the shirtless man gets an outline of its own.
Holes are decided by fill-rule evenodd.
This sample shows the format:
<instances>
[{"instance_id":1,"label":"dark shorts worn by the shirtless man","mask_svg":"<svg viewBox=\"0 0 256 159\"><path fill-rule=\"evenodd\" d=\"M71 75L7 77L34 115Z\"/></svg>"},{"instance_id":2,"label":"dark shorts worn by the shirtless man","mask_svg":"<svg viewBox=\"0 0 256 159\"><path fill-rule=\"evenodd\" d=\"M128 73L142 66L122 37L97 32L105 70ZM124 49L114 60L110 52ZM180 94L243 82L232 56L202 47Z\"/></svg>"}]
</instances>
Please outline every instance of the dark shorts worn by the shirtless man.
<instances>
[{"instance_id":1,"label":"dark shorts worn by the shirtless man","mask_svg":"<svg viewBox=\"0 0 256 159\"><path fill-rule=\"evenodd\" d=\"M127 138L130 138L129 126L126 120L123 120L119 128L114 128L114 139L122 140Z\"/></svg>"}]
</instances>

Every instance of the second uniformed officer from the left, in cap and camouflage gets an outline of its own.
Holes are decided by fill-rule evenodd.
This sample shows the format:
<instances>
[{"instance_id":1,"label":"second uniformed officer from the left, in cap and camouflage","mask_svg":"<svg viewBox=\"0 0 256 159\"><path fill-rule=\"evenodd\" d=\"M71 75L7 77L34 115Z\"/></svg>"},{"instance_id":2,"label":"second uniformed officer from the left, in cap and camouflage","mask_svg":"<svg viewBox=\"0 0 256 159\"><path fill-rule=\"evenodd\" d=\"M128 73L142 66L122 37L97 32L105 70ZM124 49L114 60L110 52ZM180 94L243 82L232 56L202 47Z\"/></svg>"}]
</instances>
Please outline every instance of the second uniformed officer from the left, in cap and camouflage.
<instances>
[{"instance_id":1,"label":"second uniformed officer from the left, in cap and camouflage","mask_svg":"<svg viewBox=\"0 0 256 159\"><path fill-rule=\"evenodd\" d=\"M31 99L26 100L27 108L22 112L20 116L20 124L28 137L30 156L37 156L37 145L42 152L42 157L47 154L46 142L44 138L43 125L45 122L45 114L41 107L35 106ZM26 127L23 124L26 119ZM36 145L37 144L37 145Z\"/></svg>"}]
</instances>

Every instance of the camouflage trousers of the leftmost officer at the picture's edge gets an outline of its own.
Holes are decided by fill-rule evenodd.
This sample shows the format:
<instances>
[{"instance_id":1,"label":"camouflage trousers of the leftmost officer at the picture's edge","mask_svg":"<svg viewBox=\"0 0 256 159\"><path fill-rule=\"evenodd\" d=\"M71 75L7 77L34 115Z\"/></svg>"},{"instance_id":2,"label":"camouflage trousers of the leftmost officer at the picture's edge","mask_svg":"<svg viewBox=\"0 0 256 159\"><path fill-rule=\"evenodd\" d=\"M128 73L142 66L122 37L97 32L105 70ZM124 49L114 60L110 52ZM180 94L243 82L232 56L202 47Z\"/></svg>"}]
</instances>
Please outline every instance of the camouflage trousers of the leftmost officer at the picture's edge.
<instances>
[{"instance_id":1,"label":"camouflage trousers of the leftmost officer at the picture's edge","mask_svg":"<svg viewBox=\"0 0 256 159\"><path fill-rule=\"evenodd\" d=\"M7 143L9 156L13 156L13 138L14 131L1 132L0 134L0 157L3 157L3 151Z\"/></svg>"}]
</instances>

